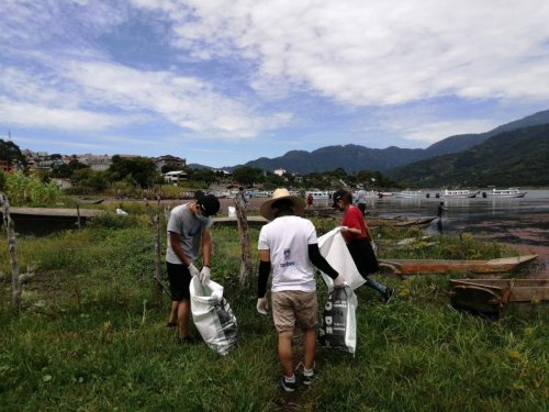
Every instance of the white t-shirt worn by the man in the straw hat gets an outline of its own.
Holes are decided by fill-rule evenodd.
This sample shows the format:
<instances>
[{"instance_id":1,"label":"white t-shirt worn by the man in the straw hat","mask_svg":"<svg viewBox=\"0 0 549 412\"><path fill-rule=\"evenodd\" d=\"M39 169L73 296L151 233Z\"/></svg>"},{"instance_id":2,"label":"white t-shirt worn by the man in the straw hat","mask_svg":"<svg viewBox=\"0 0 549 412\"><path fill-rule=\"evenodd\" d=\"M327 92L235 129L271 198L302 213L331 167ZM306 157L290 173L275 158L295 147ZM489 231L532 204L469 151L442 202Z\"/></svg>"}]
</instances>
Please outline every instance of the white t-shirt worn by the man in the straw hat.
<instances>
[{"instance_id":1,"label":"white t-shirt worn by the man in the straw hat","mask_svg":"<svg viewBox=\"0 0 549 412\"><path fill-rule=\"evenodd\" d=\"M318 243L311 221L299 216L281 216L261 227L258 249L270 250L272 292L300 290L314 292L313 264L309 245Z\"/></svg>"}]
</instances>

